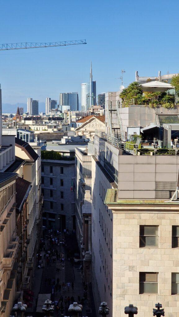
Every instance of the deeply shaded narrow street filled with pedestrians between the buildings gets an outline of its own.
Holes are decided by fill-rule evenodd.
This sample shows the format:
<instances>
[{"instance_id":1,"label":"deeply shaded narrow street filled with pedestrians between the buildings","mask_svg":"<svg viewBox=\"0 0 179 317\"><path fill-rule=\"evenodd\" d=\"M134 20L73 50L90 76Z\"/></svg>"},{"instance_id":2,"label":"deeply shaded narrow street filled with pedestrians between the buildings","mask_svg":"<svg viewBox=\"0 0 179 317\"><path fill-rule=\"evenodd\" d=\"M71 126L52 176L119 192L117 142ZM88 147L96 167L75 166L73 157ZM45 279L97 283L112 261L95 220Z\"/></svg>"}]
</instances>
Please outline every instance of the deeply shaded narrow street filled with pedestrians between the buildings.
<instances>
[{"instance_id":1,"label":"deeply shaded narrow street filled with pedestrians between the buildings","mask_svg":"<svg viewBox=\"0 0 179 317\"><path fill-rule=\"evenodd\" d=\"M56 236L54 235L54 238ZM74 242L76 242L75 235L66 235L62 236L62 239L65 239L65 243L53 244L49 239L45 239L45 247L46 251L49 249L54 249L55 252L58 251L59 260L48 263L46 259L44 259L45 251L40 251L42 255L42 260L44 263L44 268L36 268L35 276L34 276L34 283L32 287L32 291L34 292L34 301L32 307L27 308L27 312L31 312L33 316L35 316L37 301L38 301L38 294L51 294L51 299L53 302L58 301L59 307L61 305L60 299L62 301L64 312L63 314L69 316L68 308L69 303L78 302L82 304L82 314L81 316L88 316L91 317L91 308L90 308L90 298L89 294L87 294L87 299L84 299L84 283L83 283L83 276L82 272L79 269L80 262L77 264L74 262L72 265L69 260L69 250L73 248ZM57 250L57 251L56 251ZM72 254L72 253L71 253ZM64 255L64 264L61 261L62 256ZM58 270L59 268L59 270ZM61 289L55 287L57 285L57 279L59 279L59 285L61 285ZM63 283L65 283L63 287ZM67 286L67 283L70 283L70 286ZM72 283L74 284L74 289L72 289ZM65 296L66 299L69 297L70 300L66 301L65 303ZM63 298L62 298L63 297ZM93 301L93 299L92 299ZM55 306L55 305L54 305ZM54 316L60 316L61 312L57 313L56 308L54 309Z\"/></svg>"}]
</instances>

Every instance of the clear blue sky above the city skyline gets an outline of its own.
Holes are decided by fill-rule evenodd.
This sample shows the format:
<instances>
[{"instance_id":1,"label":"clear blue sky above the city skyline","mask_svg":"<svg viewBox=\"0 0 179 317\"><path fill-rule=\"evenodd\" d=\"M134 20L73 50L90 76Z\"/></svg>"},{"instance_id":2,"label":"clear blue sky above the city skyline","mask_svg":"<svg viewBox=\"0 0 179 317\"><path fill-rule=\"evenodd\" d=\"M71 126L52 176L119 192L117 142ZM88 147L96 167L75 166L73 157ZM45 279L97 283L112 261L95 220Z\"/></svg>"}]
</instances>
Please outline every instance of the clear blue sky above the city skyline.
<instances>
[{"instance_id":1,"label":"clear blue sky above the city skyline","mask_svg":"<svg viewBox=\"0 0 179 317\"><path fill-rule=\"evenodd\" d=\"M0 1L0 43L86 39L86 45L0 51L3 103L28 97L59 100L89 81L97 94L119 89L139 75L179 72L179 2L166 0Z\"/></svg>"}]
</instances>

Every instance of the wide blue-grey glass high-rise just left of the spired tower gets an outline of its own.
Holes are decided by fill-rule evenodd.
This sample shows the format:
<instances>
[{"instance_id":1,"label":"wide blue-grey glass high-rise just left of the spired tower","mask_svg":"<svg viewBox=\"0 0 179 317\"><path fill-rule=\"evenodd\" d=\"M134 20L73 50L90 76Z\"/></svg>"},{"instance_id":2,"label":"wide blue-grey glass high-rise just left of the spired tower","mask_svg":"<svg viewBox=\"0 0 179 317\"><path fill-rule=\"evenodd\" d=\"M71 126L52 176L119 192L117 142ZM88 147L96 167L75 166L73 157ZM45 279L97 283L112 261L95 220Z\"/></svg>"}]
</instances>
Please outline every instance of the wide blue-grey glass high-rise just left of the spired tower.
<instances>
[{"instance_id":1,"label":"wide blue-grey glass high-rise just left of the spired tower","mask_svg":"<svg viewBox=\"0 0 179 317\"><path fill-rule=\"evenodd\" d=\"M60 106L70 106L71 111L79 110L79 96L78 93L60 93Z\"/></svg>"}]
</instances>

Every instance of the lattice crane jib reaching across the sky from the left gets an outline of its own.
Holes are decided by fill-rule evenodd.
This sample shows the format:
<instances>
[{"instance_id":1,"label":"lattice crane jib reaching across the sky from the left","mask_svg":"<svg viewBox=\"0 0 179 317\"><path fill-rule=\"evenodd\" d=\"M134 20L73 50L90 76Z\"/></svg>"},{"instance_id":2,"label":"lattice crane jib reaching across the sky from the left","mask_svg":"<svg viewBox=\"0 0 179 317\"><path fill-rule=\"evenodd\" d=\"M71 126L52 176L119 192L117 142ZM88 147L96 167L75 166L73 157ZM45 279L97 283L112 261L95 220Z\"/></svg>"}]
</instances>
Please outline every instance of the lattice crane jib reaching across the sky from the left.
<instances>
[{"instance_id":1,"label":"lattice crane jib reaching across the sky from the left","mask_svg":"<svg viewBox=\"0 0 179 317\"><path fill-rule=\"evenodd\" d=\"M86 44L86 40L74 40L74 41L64 41L64 42L50 42L50 43L10 43L10 44L0 44L0 51L5 51L9 49L39 49L41 47L55 47L55 46L67 46L67 45L79 45Z\"/></svg>"}]
</instances>

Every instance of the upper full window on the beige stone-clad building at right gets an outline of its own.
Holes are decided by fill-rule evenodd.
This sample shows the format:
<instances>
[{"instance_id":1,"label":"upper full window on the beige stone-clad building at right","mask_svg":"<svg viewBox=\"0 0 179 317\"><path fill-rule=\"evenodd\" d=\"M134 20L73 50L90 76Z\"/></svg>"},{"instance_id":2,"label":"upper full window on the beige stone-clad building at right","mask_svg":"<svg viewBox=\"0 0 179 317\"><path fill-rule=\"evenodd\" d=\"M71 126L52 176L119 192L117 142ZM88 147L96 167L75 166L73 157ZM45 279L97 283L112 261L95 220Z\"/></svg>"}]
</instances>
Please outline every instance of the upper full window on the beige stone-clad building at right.
<instances>
[{"instance_id":1,"label":"upper full window on the beige stone-clad building at right","mask_svg":"<svg viewBox=\"0 0 179 317\"><path fill-rule=\"evenodd\" d=\"M158 226L140 226L140 248L158 247L158 241Z\"/></svg>"}]
</instances>

